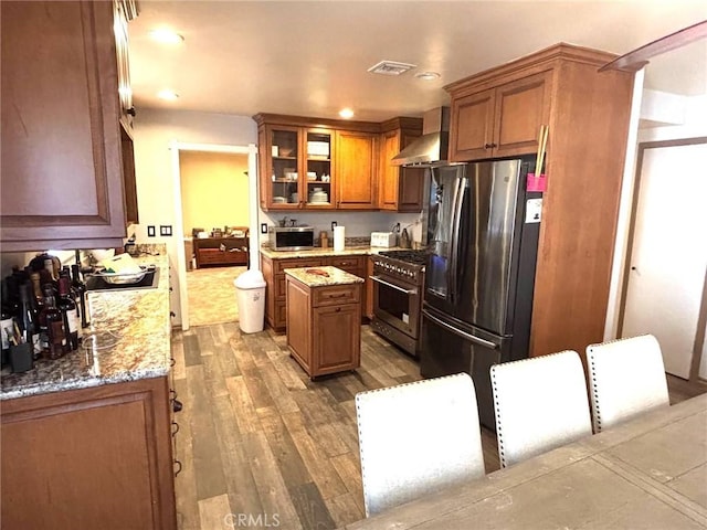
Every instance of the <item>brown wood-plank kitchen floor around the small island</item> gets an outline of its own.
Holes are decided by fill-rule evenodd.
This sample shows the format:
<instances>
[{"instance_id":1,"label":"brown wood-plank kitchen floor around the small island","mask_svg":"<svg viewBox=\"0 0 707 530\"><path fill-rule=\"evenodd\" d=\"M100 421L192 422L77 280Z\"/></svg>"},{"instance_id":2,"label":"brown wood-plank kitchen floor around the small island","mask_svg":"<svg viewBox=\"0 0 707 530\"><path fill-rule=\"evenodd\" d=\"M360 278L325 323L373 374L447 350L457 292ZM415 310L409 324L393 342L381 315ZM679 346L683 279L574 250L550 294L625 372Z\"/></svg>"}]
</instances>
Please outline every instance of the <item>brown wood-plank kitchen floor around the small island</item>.
<instances>
[{"instance_id":1,"label":"brown wood-plank kitchen floor around the small island","mask_svg":"<svg viewBox=\"0 0 707 530\"><path fill-rule=\"evenodd\" d=\"M272 331L201 326L172 344L181 530L326 530L365 517L354 396L419 380L415 361L368 326L361 368L316 382ZM705 391L668 384L672 403ZM498 469L494 433L483 430L482 444L486 471Z\"/></svg>"}]
</instances>

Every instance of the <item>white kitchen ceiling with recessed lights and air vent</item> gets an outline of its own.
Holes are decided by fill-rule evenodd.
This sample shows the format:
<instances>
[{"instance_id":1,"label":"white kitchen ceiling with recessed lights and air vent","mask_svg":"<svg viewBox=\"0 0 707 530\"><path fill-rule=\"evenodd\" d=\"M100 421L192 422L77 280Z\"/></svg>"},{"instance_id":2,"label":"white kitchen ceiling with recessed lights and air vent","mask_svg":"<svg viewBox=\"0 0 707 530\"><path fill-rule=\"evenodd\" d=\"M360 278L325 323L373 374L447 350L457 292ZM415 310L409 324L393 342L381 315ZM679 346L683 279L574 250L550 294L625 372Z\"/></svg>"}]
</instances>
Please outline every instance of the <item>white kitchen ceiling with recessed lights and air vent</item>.
<instances>
[{"instance_id":1,"label":"white kitchen ceiling with recessed lights and air vent","mask_svg":"<svg viewBox=\"0 0 707 530\"><path fill-rule=\"evenodd\" d=\"M707 19L705 0L599 1L139 1L129 24L138 108L354 119L420 116L449 103L443 87L476 72L569 42L624 54ZM169 26L177 46L151 41ZM413 63L399 77L367 70ZM434 71L441 78L416 80ZM707 94L707 41L655 57L646 85ZM180 97L162 102L158 91Z\"/></svg>"}]
</instances>

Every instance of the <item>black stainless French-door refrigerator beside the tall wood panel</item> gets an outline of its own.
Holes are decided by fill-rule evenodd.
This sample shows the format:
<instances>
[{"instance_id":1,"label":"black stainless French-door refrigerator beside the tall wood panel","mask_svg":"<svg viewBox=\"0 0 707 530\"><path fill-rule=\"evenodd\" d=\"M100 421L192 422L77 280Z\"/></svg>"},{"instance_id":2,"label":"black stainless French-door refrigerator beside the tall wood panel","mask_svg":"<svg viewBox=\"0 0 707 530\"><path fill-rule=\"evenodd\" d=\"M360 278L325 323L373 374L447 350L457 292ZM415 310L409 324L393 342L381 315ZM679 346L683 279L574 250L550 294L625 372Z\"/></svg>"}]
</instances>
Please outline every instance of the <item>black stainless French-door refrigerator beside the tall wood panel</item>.
<instances>
[{"instance_id":1,"label":"black stainless French-door refrigerator beside the tall wood panel","mask_svg":"<svg viewBox=\"0 0 707 530\"><path fill-rule=\"evenodd\" d=\"M495 428L489 369L528 357L541 193L531 159L433 168L422 346L425 378L467 372Z\"/></svg>"}]
</instances>

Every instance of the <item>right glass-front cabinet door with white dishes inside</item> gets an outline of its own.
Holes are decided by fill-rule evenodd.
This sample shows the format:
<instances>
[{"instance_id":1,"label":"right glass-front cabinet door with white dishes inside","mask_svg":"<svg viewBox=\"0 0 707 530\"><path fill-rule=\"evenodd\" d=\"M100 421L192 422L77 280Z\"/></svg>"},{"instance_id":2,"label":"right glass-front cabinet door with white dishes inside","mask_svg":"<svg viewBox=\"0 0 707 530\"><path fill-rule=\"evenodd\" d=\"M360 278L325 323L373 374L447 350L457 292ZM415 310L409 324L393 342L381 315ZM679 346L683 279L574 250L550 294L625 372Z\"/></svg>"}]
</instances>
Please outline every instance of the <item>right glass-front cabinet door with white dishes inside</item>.
<instances>
[{"instance_id":1,"label":"right glass-front cabinet door with white dishes inside","mask_svg":"<svg viewBox=\"0 0 707 530\"><path fill-rule=\"evenodd\" d=\"M331 208L331 131L307 129L304 145L306 208Z\"/></svg>"}]
</instances>

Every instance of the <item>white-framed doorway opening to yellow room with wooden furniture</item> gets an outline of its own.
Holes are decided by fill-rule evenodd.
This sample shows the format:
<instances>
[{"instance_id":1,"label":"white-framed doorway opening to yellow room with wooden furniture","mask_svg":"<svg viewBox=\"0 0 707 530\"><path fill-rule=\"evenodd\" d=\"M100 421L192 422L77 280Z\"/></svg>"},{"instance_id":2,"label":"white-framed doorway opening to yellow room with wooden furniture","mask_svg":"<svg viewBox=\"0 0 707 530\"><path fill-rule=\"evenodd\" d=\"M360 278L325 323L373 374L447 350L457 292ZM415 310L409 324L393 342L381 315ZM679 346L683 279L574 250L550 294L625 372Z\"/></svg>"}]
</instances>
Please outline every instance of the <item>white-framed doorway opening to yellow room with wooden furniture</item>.
<instances>
[{"instance_id":1,"label":"white-framed doorway opening to yellow room with wooden furniture","mask_svg":"<svg viewBox=\"0 0 707 530\"><path fill-rule=\"evenodd\" d=\"M257 226L256 148L172 144L177 277L183 330L233 322L238 307L233 280L257 254L249 237ZM251 241L249 241L251 240ZM197 258L197 253L202 259Z\"/></svg>"}]
</instances>

